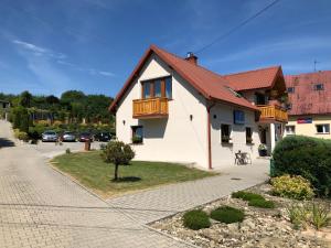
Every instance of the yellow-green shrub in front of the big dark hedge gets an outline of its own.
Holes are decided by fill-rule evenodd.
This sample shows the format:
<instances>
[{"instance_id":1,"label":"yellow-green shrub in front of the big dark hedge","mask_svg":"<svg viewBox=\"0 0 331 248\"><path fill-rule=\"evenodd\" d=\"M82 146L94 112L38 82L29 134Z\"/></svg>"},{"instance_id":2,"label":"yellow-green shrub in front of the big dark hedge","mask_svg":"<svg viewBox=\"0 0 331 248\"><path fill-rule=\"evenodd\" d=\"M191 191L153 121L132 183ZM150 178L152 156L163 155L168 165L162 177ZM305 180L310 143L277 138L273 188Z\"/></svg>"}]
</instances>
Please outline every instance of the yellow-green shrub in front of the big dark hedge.
<instances>
[{"instance_id":1,"label":"yellow-green shrub in front of the big dark hedge","mask_svg":"<svg viewBox=\"0 0 331 248\"><path fill-rule=\"evenodd\" d=\"M313 196L310 182L300 175L281 175L271 180L273 194L295 200L309 200Z\"/></svg>"}]
</instances>

